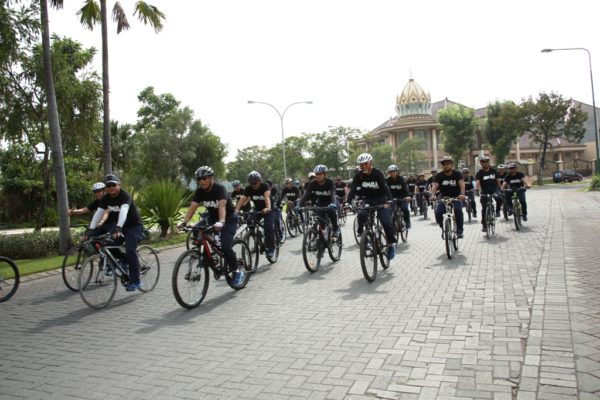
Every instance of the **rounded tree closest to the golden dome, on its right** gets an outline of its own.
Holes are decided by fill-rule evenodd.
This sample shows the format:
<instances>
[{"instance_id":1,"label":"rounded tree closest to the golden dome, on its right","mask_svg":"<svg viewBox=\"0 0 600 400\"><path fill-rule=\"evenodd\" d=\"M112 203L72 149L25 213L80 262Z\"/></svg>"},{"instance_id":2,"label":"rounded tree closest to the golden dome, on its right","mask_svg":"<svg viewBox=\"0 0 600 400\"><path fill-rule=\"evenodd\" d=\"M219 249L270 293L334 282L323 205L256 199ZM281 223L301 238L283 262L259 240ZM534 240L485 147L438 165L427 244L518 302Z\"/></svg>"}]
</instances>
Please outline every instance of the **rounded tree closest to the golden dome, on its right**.
<instances>
[{"instance_id":1,"label":"rounded tree closest to the golden dome, on its right","mask_svg":"<svg viewBox=\"0 0 600 400\"><path fill-rule=\"evenodd\" d=\"M461 105L453 105L438 112L438 121L442 124L444 151L455 162L462 159L467 149L473 146L475 120L473 110Z\"/></svg>"}]
</instances>

